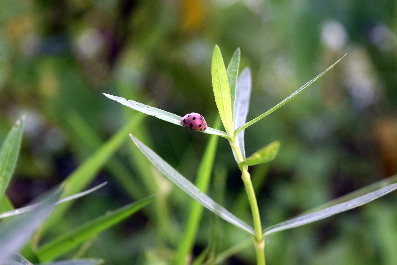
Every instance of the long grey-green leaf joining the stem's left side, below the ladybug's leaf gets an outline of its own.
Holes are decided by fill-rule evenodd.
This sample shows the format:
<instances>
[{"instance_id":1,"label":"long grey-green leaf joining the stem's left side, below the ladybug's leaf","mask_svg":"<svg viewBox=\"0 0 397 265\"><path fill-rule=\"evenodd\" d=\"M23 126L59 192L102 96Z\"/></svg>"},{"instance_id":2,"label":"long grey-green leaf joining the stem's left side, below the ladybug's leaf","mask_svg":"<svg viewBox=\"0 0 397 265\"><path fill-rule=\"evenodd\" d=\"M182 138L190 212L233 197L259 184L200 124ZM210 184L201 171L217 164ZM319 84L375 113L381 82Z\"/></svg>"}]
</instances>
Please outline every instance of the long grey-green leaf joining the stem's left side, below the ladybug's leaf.
<instances>
[{"instance_id":1,"label":"long grey-green leaf joining the stem's left side, below the ladybug's leaf","mask_svg":"<svg viewBox=\"0 0 397 265\"><path fill-rule=\"evenodd\" d=\"M227 222L234 224L235 226L241 228L242 230L254 235L254 230L245 222L234 216L231 212L226 210L224 207L214 202L205 193L200 191L195 185L193 185L189 180L183 177L178 171L176 171L172 166L165 162L158 154L153 152L150 148L141 143L137 138L130 134L131 139L139 147L139 149L145 154L145 156L163 173L168 179L185 191L189 196L198 201L204 207L206 207L211 212L214 212Z\"/></svg>"}]
</instances>

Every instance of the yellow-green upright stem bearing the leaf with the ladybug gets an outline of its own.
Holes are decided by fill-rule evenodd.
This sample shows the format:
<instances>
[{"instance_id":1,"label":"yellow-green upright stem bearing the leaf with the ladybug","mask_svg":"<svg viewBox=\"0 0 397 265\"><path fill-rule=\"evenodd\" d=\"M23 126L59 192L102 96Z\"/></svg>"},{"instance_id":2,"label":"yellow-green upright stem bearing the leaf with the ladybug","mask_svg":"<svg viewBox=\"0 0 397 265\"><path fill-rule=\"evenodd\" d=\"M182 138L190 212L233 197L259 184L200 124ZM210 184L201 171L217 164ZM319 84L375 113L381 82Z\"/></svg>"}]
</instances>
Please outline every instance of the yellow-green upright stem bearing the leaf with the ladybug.
<instances>
[{"instance_id":1,"label":"yellow-green upright stem bearing the leaf with the ladybug","mask_svg":"<svg viewBox=\"0 0 397 265\"><path fill-rule=\"evenodd\" d=\"M230 146L234 150L237 156L237 160L239 162L243 161L243 155L241 154L241 150L238 142L233 139L230 141ZM258 203L256 202L254 187L251 182L251 175L248 172L248 166L239 166L241 170L241 178L243 179L243 183L245 185L245 190L247 191L248 201L251 206L252 218L254 221L254 230L255 230L255 251L256 251L256 261L258 265L265 265L265 241L262 234L262 225L260 224L260 215L258 209Z\"/></svg>"}]
</instances>

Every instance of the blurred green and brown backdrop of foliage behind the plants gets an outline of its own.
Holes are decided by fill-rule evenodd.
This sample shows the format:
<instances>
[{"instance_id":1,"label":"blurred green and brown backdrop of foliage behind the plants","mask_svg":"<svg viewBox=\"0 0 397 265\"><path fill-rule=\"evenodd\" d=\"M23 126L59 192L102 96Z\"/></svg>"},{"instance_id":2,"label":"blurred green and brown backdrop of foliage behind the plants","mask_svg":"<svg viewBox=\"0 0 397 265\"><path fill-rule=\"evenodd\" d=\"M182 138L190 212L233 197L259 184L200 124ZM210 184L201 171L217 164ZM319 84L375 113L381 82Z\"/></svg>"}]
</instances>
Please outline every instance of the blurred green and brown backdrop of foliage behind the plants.
<instances>
[{"instance_id":1,"label":"blurred green and brown backdrop of foliage behind the plants","mask_svg":"<svg viewBox=\"0 0 397 265\"><path fill-rule=\"evenodd\" d=\"M227 65L237 47L253 86L248 119L264 113L333 62L308 90L245 132L250 155L279 140L276 160L252 167L264 226L397 173L397 2L393 0L1 0L0 141L27 114L8 196L21 207L60 183L102 142L139 115L101 92L183 116L216 120L211 57ZM208 134L154 117L131 129L194 180ZM156 206L65 258L106 264L170 264L190 197L155 171L127 139L53 238L146 195ZM208 194L251 224L230 146L219 140ZM132 179L134 187L121 179ZM135 186L136 185L136 186ZM189 202L189 203L187 203ZM166 209L158 212L160 207ZM156 210L157 208L157 210ZM266 239L278 264L396 264L397 194ZM164 216L162 217L162 214ZM219 253L249 238L204 211L194 248ZM194 258L194 256L193 256ZM224 264L254 264L249 246Z\"/></svg>"}]
</instances>

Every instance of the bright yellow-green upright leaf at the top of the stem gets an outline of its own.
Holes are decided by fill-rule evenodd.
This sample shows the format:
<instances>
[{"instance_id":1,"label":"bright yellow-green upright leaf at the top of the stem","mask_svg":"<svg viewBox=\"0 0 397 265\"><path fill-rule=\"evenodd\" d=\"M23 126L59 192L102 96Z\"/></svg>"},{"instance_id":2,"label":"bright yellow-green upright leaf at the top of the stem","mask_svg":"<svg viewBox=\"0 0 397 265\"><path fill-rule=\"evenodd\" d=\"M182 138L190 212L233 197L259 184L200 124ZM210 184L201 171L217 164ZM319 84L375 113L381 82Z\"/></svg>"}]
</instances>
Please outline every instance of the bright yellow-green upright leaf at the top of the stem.
<instances>
[{"instance_id":1,"label":"bright yellow-green upright leaf at the top of the stem","mask_svg":"<svg viewBox=\"0 0 397 265\"><path fill-rule=\"evenodd\" d=\"M233 137L234 130L229 81L227 80L225 64L218 45L215 45L214 53L212 54L211 74L216 107L218 107L226 133L229 137Z\"/></svg>"}]
</instances>

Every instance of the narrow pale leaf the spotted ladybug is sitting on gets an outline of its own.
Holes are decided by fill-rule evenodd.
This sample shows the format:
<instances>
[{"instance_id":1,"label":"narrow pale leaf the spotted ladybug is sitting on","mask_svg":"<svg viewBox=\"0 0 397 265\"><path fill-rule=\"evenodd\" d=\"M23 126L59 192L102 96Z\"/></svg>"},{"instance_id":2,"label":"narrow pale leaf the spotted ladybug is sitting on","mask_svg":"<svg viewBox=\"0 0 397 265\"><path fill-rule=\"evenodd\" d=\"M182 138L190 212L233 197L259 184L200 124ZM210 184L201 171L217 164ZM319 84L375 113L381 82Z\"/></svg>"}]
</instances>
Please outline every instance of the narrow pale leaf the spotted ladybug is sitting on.
<instances>
[{"instance_id":1,"label":"narrow pale leaf the spotted ladybug is sitting on","mask_svg":"<svg viewBox=\"0 0 397 265\"><path fill-rule=\"evenodd\" d=\"M170 113L168 111L165 111L165 110L162 110L162 109L158 109L158 108L155 108L155 107L150 107L148 105L145 105L143 103L139 103L137 101L127 100L127 99L125 99L123 97L109 95L109 94L106 94L106 93L102 93L102 94L106 95L106 97L108 97L110 99L113 99L113 100L115 100L115 101L117 101L117 102L119 102L119 103L121 103L121 104L123 104L123 105L125 105L127 107L130 107L131 109L135 109L135 110L143 112L143 113L145 113L147 115L154 116L154 117L156 117L158 119L162 119L164 121L168 121L168 122L173 123L175 125L185 127L185 126L183 126L181 124L182 117L178 116L176 114L173 114L173 113ZM199 130L196 130L196 131L199 131ZM199 132L201 132L201 131L199 131ZM202 133L216 134L216 135L223 136L223 137L226 137L226 138L229 137L225 132L220 131L220 130L216 130L216 129L211 128L211 127L207 127L207 129L205 131L202 131Z\"/></svg>"}]
</instances>

